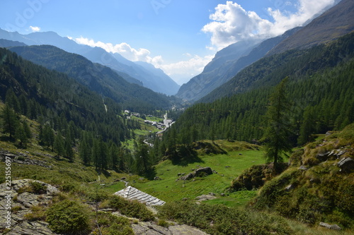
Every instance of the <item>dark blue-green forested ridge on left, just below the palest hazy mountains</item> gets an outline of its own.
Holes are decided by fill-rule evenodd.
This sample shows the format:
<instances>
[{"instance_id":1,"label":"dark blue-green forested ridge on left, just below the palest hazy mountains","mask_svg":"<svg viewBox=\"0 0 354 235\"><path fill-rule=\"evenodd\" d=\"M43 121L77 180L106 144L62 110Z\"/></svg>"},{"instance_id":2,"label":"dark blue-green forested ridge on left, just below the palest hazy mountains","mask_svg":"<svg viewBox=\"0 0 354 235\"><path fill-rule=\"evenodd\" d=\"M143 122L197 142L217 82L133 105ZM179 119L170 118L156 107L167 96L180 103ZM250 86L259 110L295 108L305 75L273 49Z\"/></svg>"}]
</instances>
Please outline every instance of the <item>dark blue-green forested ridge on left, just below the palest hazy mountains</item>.
<instances>
[{"instance_id":1,"label":"dark blue-green forested ridge on left, just below the palest hazy mountains","mask_svg":"<svg viewBox=\"0 0 354 235\"><path fill-rule=\"evenodd\" d=\"M35 64L68 76L88 86L104 97L110 97L132 110L144 107L168 109L171 107L171 98L140 85L128 83L111 68L101 64L93 64L84 56L65 52L50 45L11 47L12 52L28 59Z\"/></svg>"}]
</instances>

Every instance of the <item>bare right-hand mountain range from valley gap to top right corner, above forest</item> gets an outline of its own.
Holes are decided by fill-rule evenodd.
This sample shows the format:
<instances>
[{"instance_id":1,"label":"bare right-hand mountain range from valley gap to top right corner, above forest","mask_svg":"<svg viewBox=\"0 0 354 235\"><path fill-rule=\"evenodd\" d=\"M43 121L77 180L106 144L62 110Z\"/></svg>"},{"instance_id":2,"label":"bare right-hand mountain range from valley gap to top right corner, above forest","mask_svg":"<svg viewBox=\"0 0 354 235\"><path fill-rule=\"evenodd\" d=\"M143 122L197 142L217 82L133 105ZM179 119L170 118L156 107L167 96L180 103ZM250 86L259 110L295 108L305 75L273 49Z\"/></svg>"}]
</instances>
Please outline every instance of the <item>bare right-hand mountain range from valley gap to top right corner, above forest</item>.
<instances>
[{"instance_id":1,"label":"bare right-hand mountain range from valley gap to top right corner, above forest","mask_svg":"<svg viewBox=\"0 0 354 235\"><path fill-rule=\"evenodd\" d=\"M195 102L216 88L215 92L219 92L219 96L223 96L224 88L230 85L227 82L258 59L289 49L305 49L330 42L346 35L353 29L353 1L340 1L304 27L293 28L283 35L263 42L240 41L222 49L205 66L202 73L181 86L177 96ZM220 87L223 84L225 85Z\"/></svg>"}]
</instances>

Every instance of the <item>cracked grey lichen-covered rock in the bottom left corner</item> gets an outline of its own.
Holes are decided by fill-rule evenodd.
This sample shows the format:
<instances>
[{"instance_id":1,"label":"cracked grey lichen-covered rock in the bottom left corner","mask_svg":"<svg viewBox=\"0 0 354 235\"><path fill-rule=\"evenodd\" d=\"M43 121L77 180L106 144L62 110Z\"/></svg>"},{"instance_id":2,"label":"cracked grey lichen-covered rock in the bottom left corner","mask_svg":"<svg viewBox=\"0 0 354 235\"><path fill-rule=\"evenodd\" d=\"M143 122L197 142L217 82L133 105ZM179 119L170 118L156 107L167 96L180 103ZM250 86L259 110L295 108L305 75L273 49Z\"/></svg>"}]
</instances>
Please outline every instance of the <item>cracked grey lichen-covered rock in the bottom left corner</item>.
<instances>
[{"instance_id":1,"label":"cracked grey lichen-covered rock in the bottom left corner","mask_svg":"<svg viewBox=\"0 0 354 235\"><path fill-rule=\"evenodd\" d=\"M42 190L33 191L31 188L33 182ZM0 229L7 228L6 234L8 235L54 234L48 228L47 222L28 221L25 219L25 215L32 212L31 207L33 206L48 205L56 193L59 193L59 190L54 186L31 179L15 180L11 181L11 184L0 184Z\"/></svg>"}]
</instances>

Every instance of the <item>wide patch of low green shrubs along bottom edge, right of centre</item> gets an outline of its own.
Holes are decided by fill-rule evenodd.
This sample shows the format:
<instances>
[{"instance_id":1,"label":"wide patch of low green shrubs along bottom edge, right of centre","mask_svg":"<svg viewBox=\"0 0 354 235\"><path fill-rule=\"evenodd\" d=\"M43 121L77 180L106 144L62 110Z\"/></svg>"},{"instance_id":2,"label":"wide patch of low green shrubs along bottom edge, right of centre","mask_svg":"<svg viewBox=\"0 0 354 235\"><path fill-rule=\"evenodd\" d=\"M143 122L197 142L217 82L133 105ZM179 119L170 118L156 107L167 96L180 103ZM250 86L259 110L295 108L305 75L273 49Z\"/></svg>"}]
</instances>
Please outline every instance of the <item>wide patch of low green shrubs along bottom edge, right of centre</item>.
<instances>
[{"instance_id":1,"label":"wide patch of low green shrubs along bottom edge, right of centre","mask_svg":"<svg viewBox=\"0 0 354 235\"><path fill-rule=\"evenodd\" d=\"M197 227L208 234L292 234L281 217L235 210L224 205L197 205L188 201L166 203L159 208L159 217Z\"/></svg>"}]
</instances>

